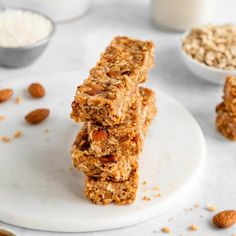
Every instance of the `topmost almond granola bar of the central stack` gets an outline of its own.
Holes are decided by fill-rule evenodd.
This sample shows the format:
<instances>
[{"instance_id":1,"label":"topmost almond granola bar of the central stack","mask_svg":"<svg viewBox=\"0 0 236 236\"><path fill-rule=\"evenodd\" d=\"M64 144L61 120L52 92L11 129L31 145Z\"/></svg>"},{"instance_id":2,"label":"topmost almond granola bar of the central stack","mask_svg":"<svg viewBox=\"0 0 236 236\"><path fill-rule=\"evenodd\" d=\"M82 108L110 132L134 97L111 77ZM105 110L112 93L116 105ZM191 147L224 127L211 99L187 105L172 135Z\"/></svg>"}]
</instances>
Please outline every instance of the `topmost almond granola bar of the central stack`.
<instances>
[{"instance_id":1,"label":"topmost almond granola bar of the central stack","mask_svg":"<svg viewBox=\"0 0 236 236\"><path fill-rule=\"evenodd\" d=\"M115 37L90 70L89 77L77 88L72 118L104 126L121 123L153 61L152 42Z\"/></svg>"}]
</instances>

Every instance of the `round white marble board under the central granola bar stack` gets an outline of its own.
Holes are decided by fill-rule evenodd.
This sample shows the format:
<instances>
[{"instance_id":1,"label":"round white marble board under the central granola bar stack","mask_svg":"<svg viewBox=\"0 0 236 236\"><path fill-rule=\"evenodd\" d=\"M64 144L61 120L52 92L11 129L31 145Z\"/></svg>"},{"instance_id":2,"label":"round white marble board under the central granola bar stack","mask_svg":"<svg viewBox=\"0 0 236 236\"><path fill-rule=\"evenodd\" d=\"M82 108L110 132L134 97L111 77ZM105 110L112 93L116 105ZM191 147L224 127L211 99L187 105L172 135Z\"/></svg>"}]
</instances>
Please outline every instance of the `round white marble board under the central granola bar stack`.
<instances>
[{"instance_id":1,"label":"round white marble board under the central granola bar stack","mask_svg":"<svg viewBox=\"0 0 236 236\"><path fill-rule=\"evenodd\" d=\"M79 128L70 120L70 103L83 72L22 76L1 83L15 97L0 105L0 136L23 136L0 142L0 220L27 228L82 232L129 226L158 216L190 191L203 167L205 142L193 117L171 97L157 91L159 114L140 158L140 188L130 206L97 206L83 195L83 176L70 169L70 146ZM40 100L26 92L31 82L45 85ZM48 120L37 126L24 122L35 108L50 108ZM48 132L45 133L45 129ZM142 182L147 181L146 185ZM160 190L153 188L159 186ZM161 193L161 197L155 194ZM150 201L142 197L151 197Z\"/></svg>"}]
</instances>

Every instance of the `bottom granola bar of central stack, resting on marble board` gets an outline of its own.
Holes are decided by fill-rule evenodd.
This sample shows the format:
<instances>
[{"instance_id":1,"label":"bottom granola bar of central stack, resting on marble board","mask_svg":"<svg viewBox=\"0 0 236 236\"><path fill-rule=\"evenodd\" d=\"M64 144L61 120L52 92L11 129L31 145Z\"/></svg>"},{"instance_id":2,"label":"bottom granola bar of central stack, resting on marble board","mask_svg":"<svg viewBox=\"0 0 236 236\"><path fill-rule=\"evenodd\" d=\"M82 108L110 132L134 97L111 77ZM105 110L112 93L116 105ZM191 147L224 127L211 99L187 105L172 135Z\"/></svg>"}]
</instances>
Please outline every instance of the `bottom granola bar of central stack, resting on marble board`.
<instances>
[{"instance_id":1,"label":"bottom granola bar of central stack, resting on marble board","mask_svg":"<svg viewBox=\"0 0 236 236\"><path fill-rule=\"evenodd\" d=\"M131 204L134 202L138 188L137 168L134 168L128 180L112 182L87 177L85 195L95 204Z\"/></svg>"}]
</instances>

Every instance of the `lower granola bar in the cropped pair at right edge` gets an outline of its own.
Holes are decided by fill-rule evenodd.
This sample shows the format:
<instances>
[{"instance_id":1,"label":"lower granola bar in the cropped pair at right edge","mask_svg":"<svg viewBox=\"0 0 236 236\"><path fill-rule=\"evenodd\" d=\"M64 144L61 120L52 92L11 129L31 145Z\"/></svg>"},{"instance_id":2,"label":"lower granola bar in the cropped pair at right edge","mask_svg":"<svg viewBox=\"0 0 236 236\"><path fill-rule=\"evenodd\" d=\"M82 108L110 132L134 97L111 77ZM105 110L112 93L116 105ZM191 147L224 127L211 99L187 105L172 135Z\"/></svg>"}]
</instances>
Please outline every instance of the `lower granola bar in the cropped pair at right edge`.
<instances>
[{"instance_id":1,"label":"lower granola bar in the cropped pair at right edge","mask_svg":"<svg viewBox=\"0 0 236 236\"><path fill-rule=\"evenodd\" d=\"M236 141L236 114L225 103L216 108L216 127L226 138Z\"/></svg>"}]
</instances>

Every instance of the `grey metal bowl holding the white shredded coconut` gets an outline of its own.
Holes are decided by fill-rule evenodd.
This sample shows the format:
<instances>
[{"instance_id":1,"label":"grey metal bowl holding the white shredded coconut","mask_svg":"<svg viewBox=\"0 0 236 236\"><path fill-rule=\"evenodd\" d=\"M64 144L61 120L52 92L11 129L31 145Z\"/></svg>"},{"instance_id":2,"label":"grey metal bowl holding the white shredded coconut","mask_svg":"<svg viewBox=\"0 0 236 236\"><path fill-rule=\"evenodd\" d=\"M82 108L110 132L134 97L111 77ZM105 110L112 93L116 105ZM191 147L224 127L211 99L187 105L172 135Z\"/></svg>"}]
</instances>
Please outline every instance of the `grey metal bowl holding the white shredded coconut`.
<instances>
[{"instance_id":1,"label":"grey metal bowl holding the white shredded coconut","mask_svg":"<svg viewBox=\"0 0 236 236\"><path fill-rule=\"evenodd\" d=\"M50 39L52 38L55 32L55 24L50 18L48 18L47 16L39 12L28 10L28 9L21 9L21 8L13 8L13 9L34 12L36 14L39 14L47 18L52 24L52 31L50 32L50 34L46 38L40 41L37 41L36 43L29 44L24 47L1 47L0 46L0 66L19 68L19 67L25 67L32 64L44 52L44 50L48 46L48 43L50 42Z\"/></svg>"}]
</instances>

